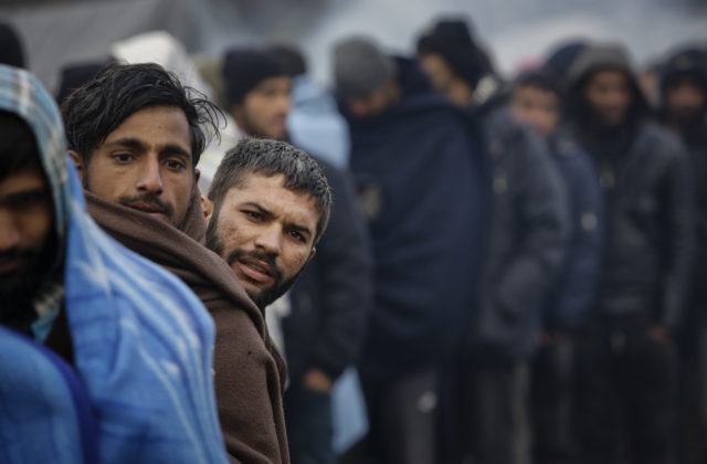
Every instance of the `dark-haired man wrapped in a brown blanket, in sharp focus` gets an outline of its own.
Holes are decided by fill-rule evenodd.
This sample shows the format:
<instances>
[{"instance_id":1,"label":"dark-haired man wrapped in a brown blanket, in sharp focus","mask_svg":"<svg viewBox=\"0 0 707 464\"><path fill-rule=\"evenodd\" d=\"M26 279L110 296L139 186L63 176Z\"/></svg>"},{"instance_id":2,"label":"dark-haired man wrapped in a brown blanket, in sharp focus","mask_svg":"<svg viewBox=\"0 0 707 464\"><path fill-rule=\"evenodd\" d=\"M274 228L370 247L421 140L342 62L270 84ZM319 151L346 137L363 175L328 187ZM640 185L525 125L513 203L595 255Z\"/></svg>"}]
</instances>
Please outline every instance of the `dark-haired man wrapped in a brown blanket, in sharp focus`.
<instances>
[{"instance_id":1,"label":"dark-haired man wrapped in a brown blanket, in sharp focus","mask_svg":"<svg viewBox=\"0 0 707 464\"><path fill-rule=\"evenodd\" d=\"M218 110L156 64L113 64L62 105L88 211L110 235L177 274L217 326L219 419L233 462L287 463L285 367L263 313L203 246L196 169Z\"/></svg>"}]
</instances>

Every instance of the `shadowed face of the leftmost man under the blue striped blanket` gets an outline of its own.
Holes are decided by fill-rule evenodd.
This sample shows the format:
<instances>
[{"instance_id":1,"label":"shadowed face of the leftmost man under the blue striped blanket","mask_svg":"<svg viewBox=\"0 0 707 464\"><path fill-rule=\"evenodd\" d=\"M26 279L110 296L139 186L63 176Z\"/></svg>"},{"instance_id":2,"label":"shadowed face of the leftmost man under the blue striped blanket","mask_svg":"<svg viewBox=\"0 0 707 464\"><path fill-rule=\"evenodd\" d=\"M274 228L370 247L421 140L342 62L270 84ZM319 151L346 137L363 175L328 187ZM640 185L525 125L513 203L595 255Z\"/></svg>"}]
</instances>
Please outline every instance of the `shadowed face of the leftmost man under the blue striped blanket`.
<instances>
[{"instance_id":1,"label":"shadowed face of the leftmost man under the blue striped blanket","mask_svg":"<svg viewBox=\"0 0 707 464\"><path fill-rule=\"evenodd\" d=\"M49 265L42 257L53 224L52 196L39 159L0 180L1 298L36 289Z\"/></svg>"}]
</instances>

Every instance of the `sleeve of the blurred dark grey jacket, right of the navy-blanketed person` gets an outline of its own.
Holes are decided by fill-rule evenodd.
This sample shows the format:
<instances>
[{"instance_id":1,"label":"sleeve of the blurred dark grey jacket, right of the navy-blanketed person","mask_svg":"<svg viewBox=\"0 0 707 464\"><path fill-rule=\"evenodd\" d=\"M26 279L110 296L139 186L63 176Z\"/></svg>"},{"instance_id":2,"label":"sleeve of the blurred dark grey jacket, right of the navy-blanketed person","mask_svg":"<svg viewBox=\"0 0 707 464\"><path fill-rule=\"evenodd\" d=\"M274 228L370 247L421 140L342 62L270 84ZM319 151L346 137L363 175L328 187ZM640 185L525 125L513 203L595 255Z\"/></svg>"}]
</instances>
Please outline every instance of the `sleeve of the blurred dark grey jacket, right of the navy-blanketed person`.
<instances>
[{"instance_id":1,"label":"sleeve of the blurred dark grey jacket, right of the navy-blanketed person","mask_svg":"<svg viewBox=\"0 0 707 464\"><path fill-rule=\"evenodd\" d=\"M519 128L513 167L519 178L516 224L520 235L516 253L505 264L495 297L502 312L513 318L534 318L555 284L569 234L567 193L546 145L534 133Z\"/></svg>"}]
</instances>

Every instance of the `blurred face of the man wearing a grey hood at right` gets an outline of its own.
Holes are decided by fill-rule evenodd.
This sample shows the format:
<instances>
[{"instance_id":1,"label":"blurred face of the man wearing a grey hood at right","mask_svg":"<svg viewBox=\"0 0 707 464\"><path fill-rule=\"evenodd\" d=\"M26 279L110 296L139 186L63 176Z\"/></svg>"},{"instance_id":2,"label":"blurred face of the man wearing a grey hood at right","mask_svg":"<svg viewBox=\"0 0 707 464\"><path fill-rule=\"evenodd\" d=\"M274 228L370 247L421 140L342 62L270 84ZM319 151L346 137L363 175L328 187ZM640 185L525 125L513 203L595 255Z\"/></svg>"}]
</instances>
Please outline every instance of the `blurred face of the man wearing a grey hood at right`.
<instances>
[{"instance_id":1,"label":"blurred face of the man wearing a grey hood at right","mask_svg":"<svg viewBox=\"0 0 707 464\"><path fill-rule=\"evenodd\" d=\"M620 126L632 103L629 78L620 70L595 71L584 86L584 97L600 125Z\"/></svg>"}]
</instances>

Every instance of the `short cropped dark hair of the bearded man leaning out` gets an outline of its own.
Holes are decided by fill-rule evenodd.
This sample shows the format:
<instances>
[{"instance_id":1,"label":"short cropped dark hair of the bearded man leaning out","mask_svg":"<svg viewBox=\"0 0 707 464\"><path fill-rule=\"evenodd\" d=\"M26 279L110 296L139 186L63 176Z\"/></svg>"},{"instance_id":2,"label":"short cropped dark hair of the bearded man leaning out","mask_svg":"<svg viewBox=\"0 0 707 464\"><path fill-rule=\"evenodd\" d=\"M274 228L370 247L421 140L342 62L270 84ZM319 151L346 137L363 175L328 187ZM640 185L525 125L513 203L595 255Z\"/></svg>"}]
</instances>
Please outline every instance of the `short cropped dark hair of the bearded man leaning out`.
<instances>
[{"instance_id":1,"label":"short cropped dark hair of the bearded man leaning out","mask_svg":"<svg viewBox=\"0 0 707 464\"><path fill-rule=\"evenodd\" d=\"M247 176L258 173L265 177L283 175L284 187L293 192L309 194L319 212L316 244L329 222L331 209L331 188L321 168L309 155L292 145L271 139L245 138L230 149L209 190L209 200L214 212L221 209L221 202L229 190L241 187Z\"/></svg>"}]
</instances>

